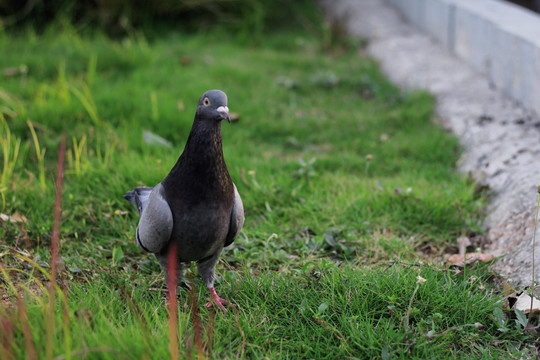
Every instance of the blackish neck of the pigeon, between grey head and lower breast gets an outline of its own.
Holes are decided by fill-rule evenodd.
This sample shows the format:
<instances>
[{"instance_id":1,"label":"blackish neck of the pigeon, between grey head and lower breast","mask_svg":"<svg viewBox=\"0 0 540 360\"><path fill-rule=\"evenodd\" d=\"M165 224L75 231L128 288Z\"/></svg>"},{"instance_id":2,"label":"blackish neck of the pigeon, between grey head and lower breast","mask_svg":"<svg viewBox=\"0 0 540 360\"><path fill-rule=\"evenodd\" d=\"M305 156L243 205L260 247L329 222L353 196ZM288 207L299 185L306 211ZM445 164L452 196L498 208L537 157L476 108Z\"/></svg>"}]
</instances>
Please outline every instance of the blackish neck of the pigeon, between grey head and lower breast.
<instances>
[{"instance_id":1,"label":"blackish neck of the pigeon, between grey head and lower breast","mask_svg":"<svg viewBox=\"0 0 540 360\"><path fill-rule=\"evenodd\" d=\"M229 191L232 181L223 157L221 123L195 121L184 152L165 178L177 191Z\"/></svg>"}]
</instances>

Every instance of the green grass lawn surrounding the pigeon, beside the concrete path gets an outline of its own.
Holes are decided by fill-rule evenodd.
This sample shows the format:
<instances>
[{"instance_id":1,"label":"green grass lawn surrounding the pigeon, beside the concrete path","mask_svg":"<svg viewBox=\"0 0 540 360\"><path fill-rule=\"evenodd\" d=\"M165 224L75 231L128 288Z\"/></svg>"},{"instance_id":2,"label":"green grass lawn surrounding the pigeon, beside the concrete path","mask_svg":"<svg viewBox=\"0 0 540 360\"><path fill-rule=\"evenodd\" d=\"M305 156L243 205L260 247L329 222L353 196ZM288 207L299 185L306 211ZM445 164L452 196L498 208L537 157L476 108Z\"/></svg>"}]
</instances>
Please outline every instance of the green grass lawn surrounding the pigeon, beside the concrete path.
<instances>
[{"instance_id":1,"label":"green grass lawn surrounding the pigeon, beside the concrete path","mask_svg":"<svg viewBox=\"0 0 540 360\"><path fill-rule=\"evenodd\" d=\"M508 320L502 331L494 320L502 295L486 268L456 275L417 262L425 244L441 255L461 234L480 232L484 199L455 171L460 148L434 124L432 97L396 88L352 47L323 52L320 41L297 33L252 47L217 32L149 42L67 28L2 33L0 48L10 54L0 69L27 69L0 88L2 213L28 219L0 227L8 269L0 336L13 333L15 358L29 348L10 284L26 293L38 353L48 346L37 266L49 263L62 132L67 302L55 311L54 355L168 357L162 274L135 245L137 215L122 195L169 172L195 104L211 88L224 90L239 114L223 124L223 138L246 223L217 269L218 292L237 308L214 316L200 307L213 334L210 357L533 356L519 325ZM144 130L172 146L146 143ZM202 305L207 292L197 288ZM187 357L193 322L187 292L179 296ZM483 329L461 327L475 323Z\"/></svg>"}]
</instances>

